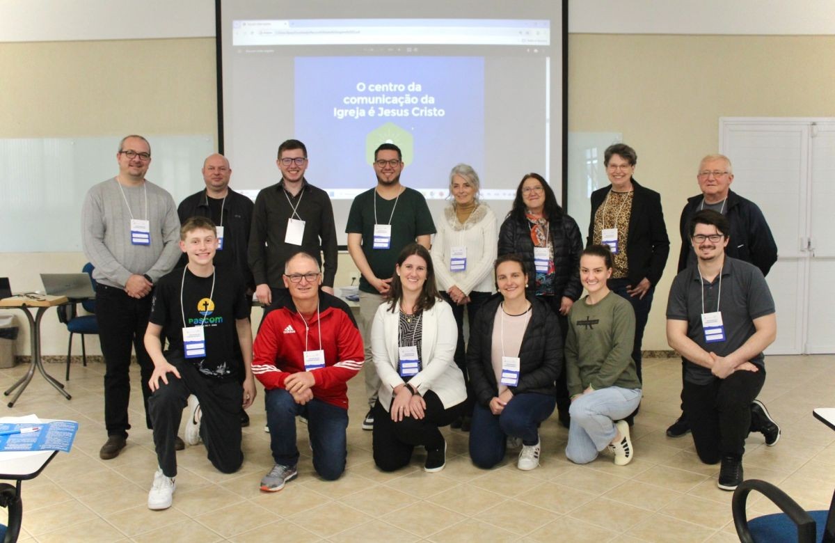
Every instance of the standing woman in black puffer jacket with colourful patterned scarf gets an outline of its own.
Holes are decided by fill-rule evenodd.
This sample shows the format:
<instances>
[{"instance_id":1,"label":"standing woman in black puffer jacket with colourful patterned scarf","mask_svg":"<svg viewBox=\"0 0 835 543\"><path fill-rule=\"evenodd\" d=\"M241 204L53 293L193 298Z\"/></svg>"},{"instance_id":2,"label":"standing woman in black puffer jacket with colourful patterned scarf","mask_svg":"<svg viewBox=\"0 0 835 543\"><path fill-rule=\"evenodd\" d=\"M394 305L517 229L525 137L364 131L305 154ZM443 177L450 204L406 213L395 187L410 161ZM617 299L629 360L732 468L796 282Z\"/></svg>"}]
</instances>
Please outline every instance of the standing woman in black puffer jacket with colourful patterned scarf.
<instances>
[{"instance_id":1,"label":"standing woman in black puffer jacket with colourful patterned scarf","mask_svg":"<svg viewBox=\"0 0 835 543\"><path fill-rule=\"evenodd\" d=\"M528 174L516 189L514 206L498 231L498 256L519 253L528 273L528 292L547 302L557 316L565 343L566 315L583 293L579 256L583 237L577 222L557 203L554 190L542 175ZM569 427L569 394L565 374L556 383L559 421Z\"/></svg>"}]
</instances>

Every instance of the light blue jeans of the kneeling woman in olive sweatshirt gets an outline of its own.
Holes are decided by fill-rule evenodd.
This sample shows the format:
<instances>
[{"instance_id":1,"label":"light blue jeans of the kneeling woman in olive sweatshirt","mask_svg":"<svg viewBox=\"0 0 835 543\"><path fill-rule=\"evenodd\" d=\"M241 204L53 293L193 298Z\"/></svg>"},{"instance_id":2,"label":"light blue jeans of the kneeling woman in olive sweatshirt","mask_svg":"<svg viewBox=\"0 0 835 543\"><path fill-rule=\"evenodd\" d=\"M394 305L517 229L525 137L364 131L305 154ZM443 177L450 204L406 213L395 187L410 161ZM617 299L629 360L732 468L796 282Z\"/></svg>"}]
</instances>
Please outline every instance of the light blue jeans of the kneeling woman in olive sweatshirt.
<instances>
[{"instance_id":1,"label":"light blue jeans of the kneeling woman in olive sweatshirt","mask_svg":"<svg viewBox=\"0 0 835 543\"><path fill-rule=\"evenodd\" d=\"M571 402L571 428L565 456L588 464L615 439L615 420L625 419L640 403L640 388L607 387Z\"/></svg>"}]
</instances>

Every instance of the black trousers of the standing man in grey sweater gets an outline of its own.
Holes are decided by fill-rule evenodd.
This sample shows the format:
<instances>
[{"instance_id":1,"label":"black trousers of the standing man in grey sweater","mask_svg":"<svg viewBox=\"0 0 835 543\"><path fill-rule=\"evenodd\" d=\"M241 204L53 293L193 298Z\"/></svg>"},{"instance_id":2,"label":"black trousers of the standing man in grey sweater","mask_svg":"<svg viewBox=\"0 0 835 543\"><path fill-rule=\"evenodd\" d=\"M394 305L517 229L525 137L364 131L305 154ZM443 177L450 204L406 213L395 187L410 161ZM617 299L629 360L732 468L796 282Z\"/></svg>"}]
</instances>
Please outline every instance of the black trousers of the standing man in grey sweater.
<instances>
[{"instance_id":1,"label":"black trousers of the standing man in grey sweater","mask_svg":"<svg viewBox=\"0 0 835 543\"><path fill-rule=\"evenodd\" d=\"M145 424L151 428L148 380L154 363L145 352L144 336L148 327L153 294L136 299L121 288L99 283L96 287L96 321L99 322L99 343L104 355L104 425L108 435L128 436L128 404L130 402L130 351L136 351L142 379Z\"/></svg>"}]
</instances>

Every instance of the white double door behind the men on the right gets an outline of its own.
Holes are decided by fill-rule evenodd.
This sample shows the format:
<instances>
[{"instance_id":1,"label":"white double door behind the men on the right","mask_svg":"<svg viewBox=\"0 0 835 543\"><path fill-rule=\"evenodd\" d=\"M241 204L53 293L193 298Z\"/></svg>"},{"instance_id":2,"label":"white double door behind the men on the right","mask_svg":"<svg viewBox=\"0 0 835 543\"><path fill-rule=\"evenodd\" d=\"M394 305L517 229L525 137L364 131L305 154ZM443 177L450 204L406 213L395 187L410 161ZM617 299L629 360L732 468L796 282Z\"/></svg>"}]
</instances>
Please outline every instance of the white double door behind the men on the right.
<instances>
[{"instance_id":1,"label":"white double door behind the men on the right","mask_svg":"<svg viewBox=\"0 0 835 543\"><path fill-rule=\"evenodd\" d=\"M733 162L731 190L760 206L777 241L777 264L767 276L777 340L767 353L835 353L835 239L827 236L835 123L721 119L720 140Z\"/></svg>"}]
</instances>

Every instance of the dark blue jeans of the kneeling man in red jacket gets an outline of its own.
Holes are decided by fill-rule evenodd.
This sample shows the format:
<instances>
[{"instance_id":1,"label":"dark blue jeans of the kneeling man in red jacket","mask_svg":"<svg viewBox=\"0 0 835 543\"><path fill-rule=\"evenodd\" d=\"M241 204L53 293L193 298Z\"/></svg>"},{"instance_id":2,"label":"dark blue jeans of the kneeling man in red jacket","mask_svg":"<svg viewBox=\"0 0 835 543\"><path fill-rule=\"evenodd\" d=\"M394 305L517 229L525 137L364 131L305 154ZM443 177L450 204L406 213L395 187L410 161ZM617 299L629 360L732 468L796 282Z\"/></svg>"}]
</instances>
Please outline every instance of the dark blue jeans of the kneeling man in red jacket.
<instances>
[{"instance_id":1,"label":"dark blue jeans of the kneeling man in red jacket","mask_svg":"<svg viewBox=\"0 0 835 543\"><path fill-rule=\"evenodd\" d=\"M270 427L270 447L276 464L295 466L296 415L307 419L307 432L313 448L313 468L322 479L337 480L345 471L348 411L313 398L299 405L284 388L266 391L266 424Z\"/></svg>"}]
</instances>

